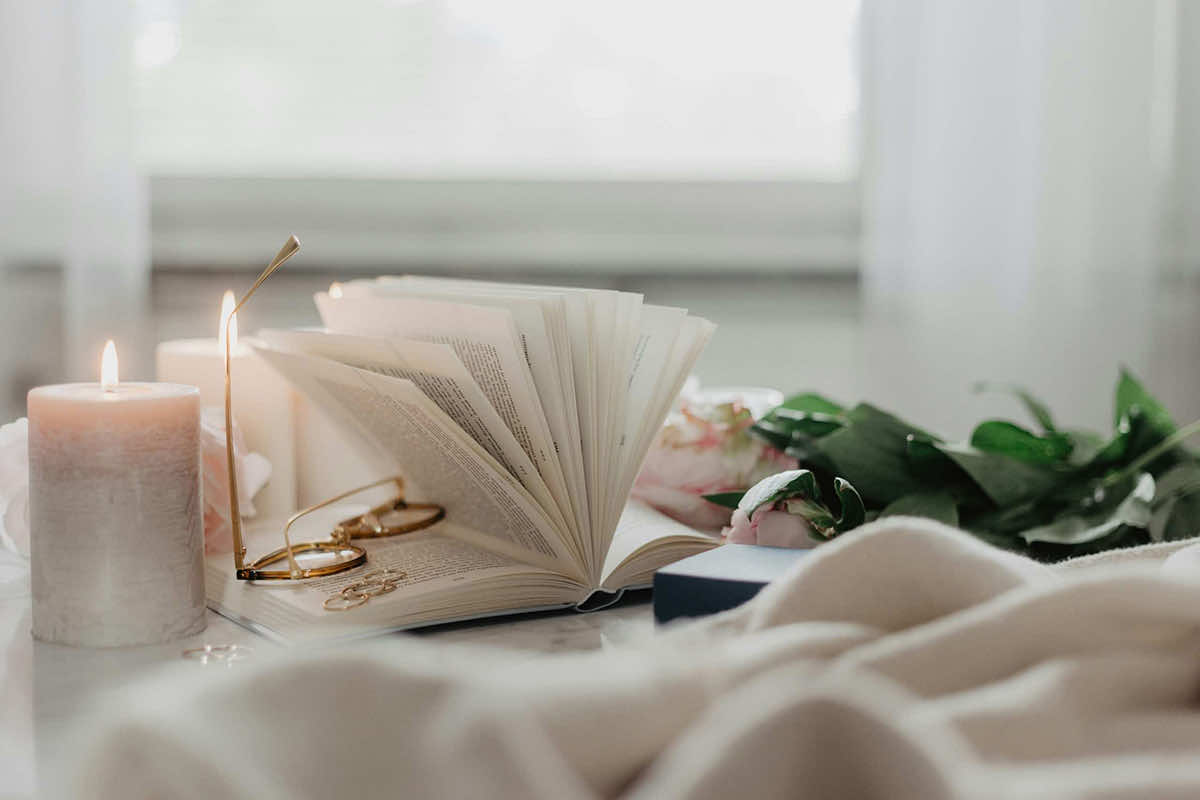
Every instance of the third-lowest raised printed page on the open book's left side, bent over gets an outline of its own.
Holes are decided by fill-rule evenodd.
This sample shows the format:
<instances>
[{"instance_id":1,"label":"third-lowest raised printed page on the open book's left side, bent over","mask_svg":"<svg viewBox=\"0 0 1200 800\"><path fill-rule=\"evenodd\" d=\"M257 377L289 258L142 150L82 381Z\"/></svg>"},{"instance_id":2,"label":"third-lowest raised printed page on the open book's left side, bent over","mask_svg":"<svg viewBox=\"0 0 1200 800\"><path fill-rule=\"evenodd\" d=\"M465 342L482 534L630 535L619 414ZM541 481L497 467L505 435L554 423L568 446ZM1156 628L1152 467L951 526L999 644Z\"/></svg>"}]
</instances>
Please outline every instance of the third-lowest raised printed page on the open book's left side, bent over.
<instances>
[{"instance_id":1,"label":"third-lowest raised printed page on the open book's left side, bent over","mask_svg":"<svg viewBox=\"0 0 1200 800\"><path fill-rule=\"evenodd\" d=\"M504 420L541 475L563 516L575 516L562 464L529 366L520 350L511 314L503 308L410 297L316 297L322 320L335 333L448 344Z\"/></svg>"}]
</instances>

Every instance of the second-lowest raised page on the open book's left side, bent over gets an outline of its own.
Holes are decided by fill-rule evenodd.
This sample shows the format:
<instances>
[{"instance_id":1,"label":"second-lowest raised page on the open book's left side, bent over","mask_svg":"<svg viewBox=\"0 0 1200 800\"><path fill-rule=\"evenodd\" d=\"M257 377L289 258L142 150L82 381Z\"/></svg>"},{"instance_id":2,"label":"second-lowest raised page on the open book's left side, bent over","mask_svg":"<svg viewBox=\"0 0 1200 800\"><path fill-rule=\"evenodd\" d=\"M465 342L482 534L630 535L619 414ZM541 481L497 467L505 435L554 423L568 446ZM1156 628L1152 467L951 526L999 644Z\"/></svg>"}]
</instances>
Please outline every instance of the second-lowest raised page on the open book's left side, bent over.
<instances>
[{"instance_id":1,"label":"second-lowest raised page on the open book's left side, bent over","mask_svg":"<svg viewBox=\"0 0 1200 800\"><path fill-rule=\"evenodd\" d=\"M276 349L331 359L367 372L410 380L516 476L560 528L568 528L529 456L448 345L316 330L265 330L259 332L259 337Z\"/></svg>"}]
</instances>

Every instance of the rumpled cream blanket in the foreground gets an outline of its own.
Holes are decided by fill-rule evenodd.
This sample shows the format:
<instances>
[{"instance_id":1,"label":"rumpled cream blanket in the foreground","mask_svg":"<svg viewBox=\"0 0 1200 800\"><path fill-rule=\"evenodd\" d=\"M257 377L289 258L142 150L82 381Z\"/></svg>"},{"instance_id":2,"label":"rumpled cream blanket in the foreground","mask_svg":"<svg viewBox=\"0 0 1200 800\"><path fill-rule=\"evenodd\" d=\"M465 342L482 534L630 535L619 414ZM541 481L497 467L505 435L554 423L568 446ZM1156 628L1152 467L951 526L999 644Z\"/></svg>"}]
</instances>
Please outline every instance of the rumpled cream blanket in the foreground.
<instances>
[{"instance_id":1,"label":"rumpled cream blanket in the foreground","mask_svg":"<svg viewBox=\"0 0 1200 800\"><path fill-rule=\"evenodd\" d=\"M1200 798L1200 563L889 519L733 612L529 658L394 637L139 685L79 796ZM119 710L118 710L119 709Z\"/></svg>"}]
</instances>

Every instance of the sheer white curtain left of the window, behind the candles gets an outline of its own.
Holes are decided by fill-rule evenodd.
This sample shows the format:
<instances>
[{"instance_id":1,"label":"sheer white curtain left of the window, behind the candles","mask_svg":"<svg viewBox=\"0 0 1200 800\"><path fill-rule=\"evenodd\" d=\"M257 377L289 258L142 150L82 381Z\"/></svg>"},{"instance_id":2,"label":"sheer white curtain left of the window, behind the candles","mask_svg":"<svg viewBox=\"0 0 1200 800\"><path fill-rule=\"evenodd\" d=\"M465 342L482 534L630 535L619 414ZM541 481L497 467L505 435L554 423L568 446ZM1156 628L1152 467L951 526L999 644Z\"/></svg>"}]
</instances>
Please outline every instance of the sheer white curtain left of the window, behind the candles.
<instances>
[{"instance_id":1,"label":"sheer white curtain left of the window, behind the candles","mask_svg":"<svg viewBox=\"0 0 1200 800\"><path fill-rule=\"evenodd\" d=\"M62 267L62 338L16 330L20 314L8 313L0 332L22 343L8 357L43 362L42 379L96 380L106 338L118 341L124 377L149 377L132 32L128 0L0 0L0 270ZM10 293L6 311L25 302ZM30 353L46 341L62 351Z\"/></svg>"}]
</instances>

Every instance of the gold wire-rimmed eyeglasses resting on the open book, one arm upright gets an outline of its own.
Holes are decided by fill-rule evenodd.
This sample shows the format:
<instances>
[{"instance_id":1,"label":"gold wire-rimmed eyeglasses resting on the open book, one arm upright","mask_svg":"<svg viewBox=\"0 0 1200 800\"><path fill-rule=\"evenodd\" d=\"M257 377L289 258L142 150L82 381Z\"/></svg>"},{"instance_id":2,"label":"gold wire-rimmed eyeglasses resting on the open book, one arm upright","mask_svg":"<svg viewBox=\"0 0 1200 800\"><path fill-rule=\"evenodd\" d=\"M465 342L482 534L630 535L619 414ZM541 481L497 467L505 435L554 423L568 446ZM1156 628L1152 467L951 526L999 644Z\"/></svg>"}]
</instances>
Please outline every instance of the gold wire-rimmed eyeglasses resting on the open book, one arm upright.
<instances>
[{"instance_id":1,"label":"gold wire-rimmed eyeglasses resting on the open book, one arm upright","mask_svg":"<svg viewBox=\"0 0 1200 800\"><path fill-rule=\"evenodd\" d=\"M353 488L348 492L329 498L317 505L302 509L290 517L283 525L283 547L271 551L253 561L246 563L246 545L241 530L241 510L238 503L238 465L233 450L233 386L230 379L230 336L229 327L236 318L238 311L247 300L263 285L266 278L271 277L280 266L300 249L300 240L289 236L280 252L275 254L271 263L263 270L254 285L238 301L233 312L224 319L224 367L226 367L226 464L229 471L229 519L233 527L233 564L234 572L239 581L300 581L304 578L319 578L329 575L337 575L346 570L354 569L367 561L367 552L353 543L355 539L374 539L378 536L397 536L428 528L433 523L445 517L445 509L434 503L408 503L404 499L404 479L397 476L385 477L374 483L367 483ZM355 494L370 492L383 486L392 485L395 495L386 503L372 507L370 511L343 519L334 527L328 540L316 542L292 543L292 525L301 517L314 511L341 503ZM269 569L272 565L287 563L287 569ZM382 585L395 589L395 579L383 581ZM373 593L382 594L382 593ZM356 601L362 595L361 601ZM370 593L356 591L354 604L365 602ZM353 606L348 606L353 607Z\"/></svg>"}]
</instances>

